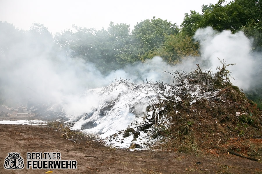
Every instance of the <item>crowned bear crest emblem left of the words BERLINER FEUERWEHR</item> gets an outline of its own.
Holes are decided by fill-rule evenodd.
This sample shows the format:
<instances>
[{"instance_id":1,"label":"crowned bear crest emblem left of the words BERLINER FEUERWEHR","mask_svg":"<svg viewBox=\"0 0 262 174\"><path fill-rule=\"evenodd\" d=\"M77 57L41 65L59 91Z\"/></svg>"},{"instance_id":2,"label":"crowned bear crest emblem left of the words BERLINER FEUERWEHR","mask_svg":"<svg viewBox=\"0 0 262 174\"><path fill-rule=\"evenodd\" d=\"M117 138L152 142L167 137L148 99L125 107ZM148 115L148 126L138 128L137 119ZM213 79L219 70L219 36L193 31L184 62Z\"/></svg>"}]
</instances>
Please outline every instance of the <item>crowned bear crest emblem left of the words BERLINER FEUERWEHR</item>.
<instances>
[{"instance_id":1,"label":"crowned bear crest emblem left of the words BERLINER FEUERWEHR","mask_svg":"<svg viewBox=\"0 0 262 174\"><path fill-rule=\"evenodd\" d=\"M6 169L22 169L24 168L24 159L20 153L8 153L4 167Z\"/></svg>"}]
</instances>

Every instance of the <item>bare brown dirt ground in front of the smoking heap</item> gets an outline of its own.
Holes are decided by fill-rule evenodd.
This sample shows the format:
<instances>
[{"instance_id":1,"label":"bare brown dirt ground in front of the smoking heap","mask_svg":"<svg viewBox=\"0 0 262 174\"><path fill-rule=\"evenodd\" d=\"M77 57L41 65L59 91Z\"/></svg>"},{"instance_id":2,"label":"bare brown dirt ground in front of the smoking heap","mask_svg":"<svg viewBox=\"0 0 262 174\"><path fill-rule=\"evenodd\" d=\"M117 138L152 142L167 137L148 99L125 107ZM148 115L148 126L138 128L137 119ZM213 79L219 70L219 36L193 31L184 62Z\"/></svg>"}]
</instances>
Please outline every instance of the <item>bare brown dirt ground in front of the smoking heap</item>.
<instances>
[{"instance_id":1,"label":"bare brown dirt ground in front of the smoking heap","mask_svg":"<svg viewBox=\"0 0 262 174\"><path fill-rule=\"evenodd\" d=\"M49 169L26 169L27 152L60 152L61 160L76 160L77 169L55 169L53 173L262 173L256 162L221 153L127 151L105 147L82 137L80 144L61 137L62 132L45 125L0 124L0 173L45 173ZM8 153L23 157L24 169L5 169ZM201 162L202 164L196 164Z\"/></svg>"}]
</instances>

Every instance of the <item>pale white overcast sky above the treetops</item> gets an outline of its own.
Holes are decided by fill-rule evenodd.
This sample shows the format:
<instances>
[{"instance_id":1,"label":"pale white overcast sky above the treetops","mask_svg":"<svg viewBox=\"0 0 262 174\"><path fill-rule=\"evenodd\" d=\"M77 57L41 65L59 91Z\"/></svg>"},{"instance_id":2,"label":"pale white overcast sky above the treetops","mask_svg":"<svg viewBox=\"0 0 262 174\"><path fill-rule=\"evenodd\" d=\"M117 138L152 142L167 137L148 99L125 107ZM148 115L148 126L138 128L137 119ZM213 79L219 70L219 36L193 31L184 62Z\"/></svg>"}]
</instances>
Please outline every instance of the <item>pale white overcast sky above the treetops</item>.
<instances>
[{"instance_id":1,"label":"pale white overcast sky above the treetops","mask_svg":"<svg viewBox=\"0 0 262 174\"><path fill-rule=\"evenodd\" d=\"M71 28L108 28L110 21L130 24L131 30L144 19L167 19L181 24L190 10L201 12L202 4L217 0L0 0L0 21L28 30L35 21L52 33Z\"/></svg>"}]
</instances>

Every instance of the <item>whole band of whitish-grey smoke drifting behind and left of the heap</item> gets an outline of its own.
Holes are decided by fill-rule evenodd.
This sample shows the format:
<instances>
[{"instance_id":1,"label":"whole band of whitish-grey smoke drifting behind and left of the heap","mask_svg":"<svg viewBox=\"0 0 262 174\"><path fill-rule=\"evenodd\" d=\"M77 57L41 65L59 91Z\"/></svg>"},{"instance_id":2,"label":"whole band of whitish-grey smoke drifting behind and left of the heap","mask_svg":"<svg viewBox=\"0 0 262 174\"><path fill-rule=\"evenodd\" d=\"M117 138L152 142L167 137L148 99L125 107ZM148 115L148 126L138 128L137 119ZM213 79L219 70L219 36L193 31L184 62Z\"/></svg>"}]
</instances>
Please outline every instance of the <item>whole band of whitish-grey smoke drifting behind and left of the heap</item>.
<instances>
[{"instance_id":1,"label":"whole band of whitish-grey smoke drifting behind and left of the heap","mask_svg":"<svg viewBox=\"0 0 262 174\"><path fill-rule=\"evenodd\" d=\"M82 97L86 89L103 87L116 78L132 78L130 82L137 83L146 82L146 79L153 82L163 80L170 84L173 79L164 71L191 71L197 68L196 64L203 64L202 68L212 68L215 71L220 64L217 57L225 59L227 63L237 64L230 67L235 77L234 85L249 87L250 77L254 73L252 42L242 32L216 33L208 27L197 30L194 38L201 44L201 57L189 57L177 66L170 66L162 58L155 57L144 64L137 63L113 71L105 77L93 64L66 56L49 36L34 32L21 34L13 30L5 34L2 32L2 95L9 104L63 103L70 112L77 110L81 113L98 105L98 96Z\"/></svg>"}]
</instances>

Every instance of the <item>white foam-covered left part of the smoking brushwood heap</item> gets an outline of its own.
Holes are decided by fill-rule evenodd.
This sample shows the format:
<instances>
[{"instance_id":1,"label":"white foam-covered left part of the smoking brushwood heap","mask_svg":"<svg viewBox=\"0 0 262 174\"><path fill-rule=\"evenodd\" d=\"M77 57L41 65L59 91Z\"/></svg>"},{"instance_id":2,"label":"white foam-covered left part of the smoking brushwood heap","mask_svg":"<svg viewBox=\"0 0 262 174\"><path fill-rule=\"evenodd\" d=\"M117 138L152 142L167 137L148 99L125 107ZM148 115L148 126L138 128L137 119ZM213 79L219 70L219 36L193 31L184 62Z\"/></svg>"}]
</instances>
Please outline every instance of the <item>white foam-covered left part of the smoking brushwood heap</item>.
<instances>
[{"instance_id":1,"label":"white foam-covered left part of the smoking brushwood heap","mask_svg":"<svg viewBox=\"0 0 262 174\"><path fill-rule=\"evenodd\" d=\"M116 80L104 88L89 90L99 96L97 108L82 116L68 116L72 129L98 133L107 146L148 148L159 142L173 124L170 109L183 99L190 105L201 98L216 97L218 90L205 91L204 86L184 79L176 85L163 83L133 84Z\"/></svg>"}]
</instances>

